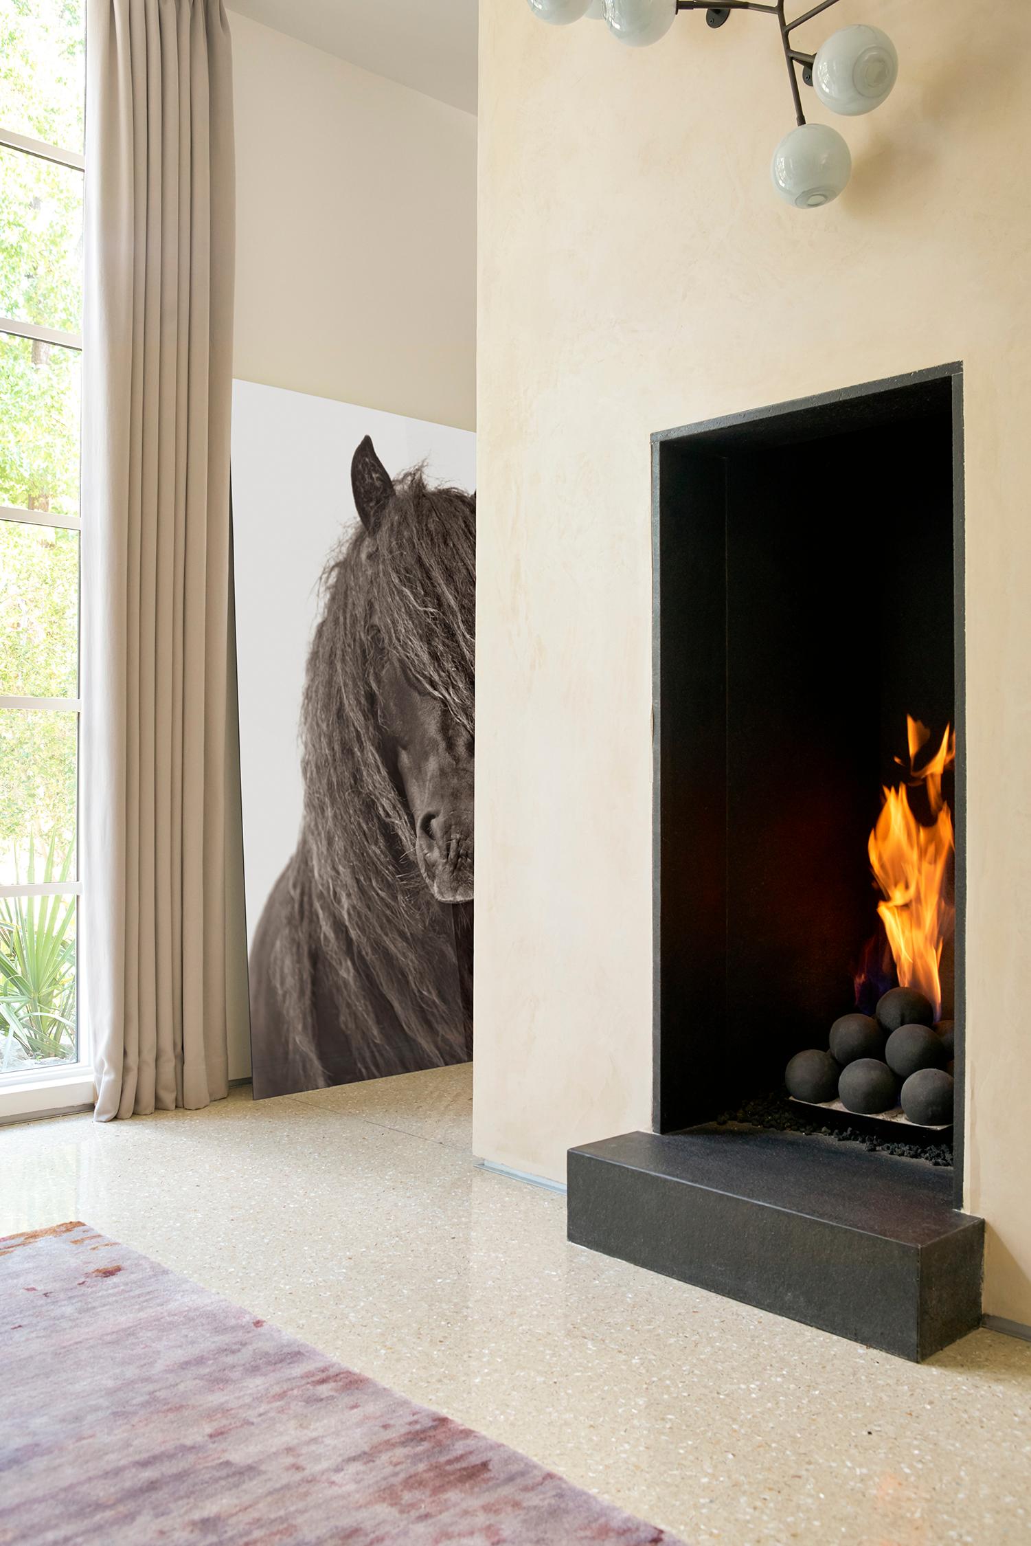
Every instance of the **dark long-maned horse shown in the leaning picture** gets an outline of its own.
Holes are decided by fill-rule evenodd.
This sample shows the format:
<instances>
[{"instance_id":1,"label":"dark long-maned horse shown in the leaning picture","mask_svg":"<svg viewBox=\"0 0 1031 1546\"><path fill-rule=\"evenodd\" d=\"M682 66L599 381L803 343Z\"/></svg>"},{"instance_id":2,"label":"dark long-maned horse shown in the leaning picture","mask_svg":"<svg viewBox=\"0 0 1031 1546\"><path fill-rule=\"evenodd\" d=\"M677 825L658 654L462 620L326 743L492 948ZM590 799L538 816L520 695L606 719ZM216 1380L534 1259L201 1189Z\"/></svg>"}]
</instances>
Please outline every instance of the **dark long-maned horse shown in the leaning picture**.
<instances>
[{"instance_id":1,"label":"dark long-maned horse shown in the leaning picture","mask_svg":"<svg viewBox=\"0 0 1031 1546\"><path fill-rule=\"evenodd\" d=\"M323 574L305 815L250 951L255 1096L471 1056L476 498L366 436Z\"/></svg>"}]
</instances>

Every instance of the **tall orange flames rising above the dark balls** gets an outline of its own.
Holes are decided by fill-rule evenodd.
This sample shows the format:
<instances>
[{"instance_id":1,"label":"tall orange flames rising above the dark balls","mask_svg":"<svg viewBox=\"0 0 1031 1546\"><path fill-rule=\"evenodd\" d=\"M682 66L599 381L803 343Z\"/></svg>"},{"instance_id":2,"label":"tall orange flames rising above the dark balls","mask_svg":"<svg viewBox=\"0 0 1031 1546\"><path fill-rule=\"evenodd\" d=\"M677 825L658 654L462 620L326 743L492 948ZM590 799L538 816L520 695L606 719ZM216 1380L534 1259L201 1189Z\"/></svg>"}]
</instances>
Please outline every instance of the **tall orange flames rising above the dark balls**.
<instances>
[{"instance_id":1,"label":"tall orange flames rising above the dark balls","mask_svg":"<svg viewBox=\"0 0 1031 1546\"><path fill-rule=\"evenodd\" d=\"M909 778L926 795L931 822L918 821L909 805L906 784L886 788L884 805L870 833L873 877L884 901L878 915L887 934L901 988L917 988L931 999L935 1019L941 1014L941 951L952 935L955 908L951 895L951 864L955 852L952 813L941 795L944 770L955 761L955 736L946 725L941 745L917 770L917 754L931 739L920 720L906 716ZM900 759L901 761L901 759Z\"/></svg>"}]
</instances>

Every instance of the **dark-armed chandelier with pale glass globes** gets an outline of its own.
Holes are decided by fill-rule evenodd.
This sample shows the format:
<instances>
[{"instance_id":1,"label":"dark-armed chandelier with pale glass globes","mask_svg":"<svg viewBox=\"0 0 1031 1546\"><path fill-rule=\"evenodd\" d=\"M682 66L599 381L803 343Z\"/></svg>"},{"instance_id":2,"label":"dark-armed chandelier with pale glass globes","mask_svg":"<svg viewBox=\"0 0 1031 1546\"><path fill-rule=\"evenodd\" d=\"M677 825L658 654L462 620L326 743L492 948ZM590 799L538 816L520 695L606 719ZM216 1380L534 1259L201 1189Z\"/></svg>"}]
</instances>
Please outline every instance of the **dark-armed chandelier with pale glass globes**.
<instances>
[{"instance_id":1,"label":"dark-armed chandelier with pale glass globes","mask_svg":"<svg viewBox=\"0 0 1031 1546\"><path fill-rule=\"evenodd\" d=\"M773 152L773 186L796 209L819 209L838 198L852 175L849 145L836 128L807 124L799 90L812 87L824 107L842 117L872 113L887 97L898 77L898 54L886 32L876 26L842 26L832 32L816 54L791 45L791 32L829 11L838 0L822 0L788 22L785 0L765 5L759 0L728 0L714 6L706 0L527 0L541 22L566 26L586 17L604 22L612 37L629 48L645 48L665 37L679 11L705 11L709 26L722 26L731 11L762 11L778 22L781 46L791 85L796 128Z\"/></svg>"}]
</instances>

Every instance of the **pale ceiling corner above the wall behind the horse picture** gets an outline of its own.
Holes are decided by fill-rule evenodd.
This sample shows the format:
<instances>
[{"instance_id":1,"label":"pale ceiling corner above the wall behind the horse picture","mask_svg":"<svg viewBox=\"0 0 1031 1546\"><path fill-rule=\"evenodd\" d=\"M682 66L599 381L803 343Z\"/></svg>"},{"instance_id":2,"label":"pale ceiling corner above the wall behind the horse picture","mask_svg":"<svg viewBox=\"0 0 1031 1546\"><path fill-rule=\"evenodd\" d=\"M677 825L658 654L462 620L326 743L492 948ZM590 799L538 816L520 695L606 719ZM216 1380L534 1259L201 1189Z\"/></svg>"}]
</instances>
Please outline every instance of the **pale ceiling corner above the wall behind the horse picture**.
<instances>
[{"instance_id":1,"label":"pale ceiling corner above the wall behind the horse picture","mask_svg":"<svg viewBox=\"0 0 1031 1546\"><path fill-rule=\"evenodd\" d=\"M476 0L229 0L229 8L476 111Z\"/></svg>"}]
</instances>

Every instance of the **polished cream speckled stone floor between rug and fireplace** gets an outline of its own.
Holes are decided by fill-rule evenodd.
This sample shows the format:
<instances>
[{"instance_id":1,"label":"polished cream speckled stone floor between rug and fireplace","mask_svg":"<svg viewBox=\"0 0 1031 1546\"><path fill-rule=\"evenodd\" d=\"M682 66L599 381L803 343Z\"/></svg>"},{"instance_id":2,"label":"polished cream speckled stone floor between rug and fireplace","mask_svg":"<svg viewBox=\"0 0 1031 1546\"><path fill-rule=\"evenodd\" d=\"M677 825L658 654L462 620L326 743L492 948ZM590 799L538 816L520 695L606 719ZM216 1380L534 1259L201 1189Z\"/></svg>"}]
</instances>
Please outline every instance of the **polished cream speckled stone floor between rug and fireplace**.
<instances>
[{"instance_id":1,"label":"polished cream speckled stone floor between rug and fireplace","mask_svg":"<svg viewBox=\"0 0 1031 1546\"><path fill-rule=\"evenodd\" d=\"M470 1073L2 1129L0 1234L82 1218L689 1541L1031 1543L1029 1343L915 1367L569 1246Z\"/></svg>"}]
</instances>

